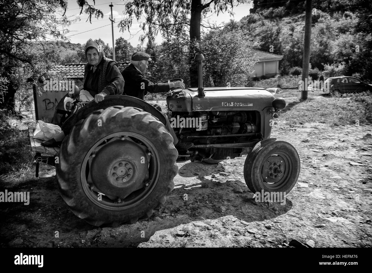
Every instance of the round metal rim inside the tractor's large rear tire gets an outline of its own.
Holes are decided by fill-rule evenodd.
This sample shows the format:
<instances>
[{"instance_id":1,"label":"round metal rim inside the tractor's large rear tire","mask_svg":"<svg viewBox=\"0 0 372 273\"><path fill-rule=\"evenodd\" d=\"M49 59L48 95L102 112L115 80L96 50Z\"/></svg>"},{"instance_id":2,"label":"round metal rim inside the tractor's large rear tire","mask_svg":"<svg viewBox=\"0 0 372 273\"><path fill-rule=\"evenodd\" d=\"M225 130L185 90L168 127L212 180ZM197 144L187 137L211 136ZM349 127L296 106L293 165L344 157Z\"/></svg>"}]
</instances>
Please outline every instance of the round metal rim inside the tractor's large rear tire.
<instances>
[{"instance_id":1,"label":"round metal rim inside the tractor's large rear tire","mask_svg":"<svg viewBox=\"0 0 372 273\"><path fill-rule=\"evenodd\" d=\"M118 157L123 151L126 153ZM118 211L144 202L157 185L160 169L159 153L149 139L121 131L103 137L90 148L81 165L80 179L90 201Z\"/></svg>"}]
</instances>

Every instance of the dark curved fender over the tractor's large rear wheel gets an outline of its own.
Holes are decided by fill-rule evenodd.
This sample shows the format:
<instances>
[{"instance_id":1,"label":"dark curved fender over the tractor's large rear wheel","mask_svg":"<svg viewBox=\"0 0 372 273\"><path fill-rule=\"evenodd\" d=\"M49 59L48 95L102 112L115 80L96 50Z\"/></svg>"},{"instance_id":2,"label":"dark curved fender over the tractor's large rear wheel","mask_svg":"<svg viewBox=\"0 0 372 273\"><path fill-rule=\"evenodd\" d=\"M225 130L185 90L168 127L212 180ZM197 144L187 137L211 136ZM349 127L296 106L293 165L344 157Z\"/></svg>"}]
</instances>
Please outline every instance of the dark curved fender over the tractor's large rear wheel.
<instances>
[{"instance_id":1,"label":"dark curved fender over the tractor's large rear wheel","mask_svg":"<svg viewBox=\"0 0 372 273\"><path fill-rule=\"evenodd\" d=\"M166 118L163 116L163 114L161 114L160 111L153 107L153 105L136 97L126 95L110 95L105 97L105 99L99 103L92 101L77 110L76 113L68 117L67 120L62 124L62 130L70 132L72 127L74 127L79 120L85 119L87 116L89 116L89 114L97 110L106 109L115 105L140 108L156 117L164 125L166 124Z\"/></svg>"}]
</instances>

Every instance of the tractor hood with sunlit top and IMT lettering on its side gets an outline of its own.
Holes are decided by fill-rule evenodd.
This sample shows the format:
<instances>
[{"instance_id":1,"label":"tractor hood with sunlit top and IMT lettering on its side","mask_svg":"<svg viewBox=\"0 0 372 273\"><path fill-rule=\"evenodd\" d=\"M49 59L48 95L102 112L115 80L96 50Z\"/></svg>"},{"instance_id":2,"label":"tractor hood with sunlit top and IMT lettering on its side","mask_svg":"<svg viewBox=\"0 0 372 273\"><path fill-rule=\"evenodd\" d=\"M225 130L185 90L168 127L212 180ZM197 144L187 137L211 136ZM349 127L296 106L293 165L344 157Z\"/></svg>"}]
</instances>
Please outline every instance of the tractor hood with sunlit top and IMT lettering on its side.
<instances>
[{"instance_id":1,"label":"tractor hood with sunlit top and IMT lettering on its side","mask_svg":"<svg viewBox=\"0 0 372 273\"><path fill-rule=\"evenodd\" d=\"M274 95L264 88L206 87L205 97L198 96L198 88L188 88L167 98L172 111L262 111L272 107ZM180 95L181 94L181 95ZM189 105L189 104L192 105ZM191 106L191 107L190 107Z\"/></svg>"}]
</instances>

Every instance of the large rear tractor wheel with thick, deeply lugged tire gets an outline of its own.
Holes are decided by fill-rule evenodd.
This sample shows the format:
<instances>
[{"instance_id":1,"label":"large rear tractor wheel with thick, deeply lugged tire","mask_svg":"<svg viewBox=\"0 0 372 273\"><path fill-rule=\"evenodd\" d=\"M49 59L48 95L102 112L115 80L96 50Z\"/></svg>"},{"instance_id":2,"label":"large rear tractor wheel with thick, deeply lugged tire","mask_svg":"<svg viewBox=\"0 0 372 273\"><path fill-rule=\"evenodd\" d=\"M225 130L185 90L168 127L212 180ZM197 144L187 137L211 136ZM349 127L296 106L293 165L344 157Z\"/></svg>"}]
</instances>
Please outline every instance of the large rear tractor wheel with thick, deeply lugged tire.
<instances>
[{"instance_id":1,"label":"large rear tractor wheel with thick, deeply lugged tire","mask_svg":"<svg viewBox=\"0 0 372 273\"><path fill-rule=\"evenodd\" d=\"M56 169L71 211L94 226L148 218L166 201L178 153L164 125L139 108L113 106L79 121Z\"/></svg>"}]
</instances>

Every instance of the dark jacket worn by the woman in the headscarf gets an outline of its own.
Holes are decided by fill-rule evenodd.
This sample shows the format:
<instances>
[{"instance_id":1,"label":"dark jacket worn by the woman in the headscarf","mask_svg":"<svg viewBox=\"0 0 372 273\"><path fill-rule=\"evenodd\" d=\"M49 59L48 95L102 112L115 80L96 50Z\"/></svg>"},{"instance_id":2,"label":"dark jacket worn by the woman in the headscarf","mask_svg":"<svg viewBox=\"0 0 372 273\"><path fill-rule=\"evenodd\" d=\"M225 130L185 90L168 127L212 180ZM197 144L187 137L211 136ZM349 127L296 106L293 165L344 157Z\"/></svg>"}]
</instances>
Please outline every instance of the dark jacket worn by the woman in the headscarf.
<instances>
[{"instance_id":1,"label":"dark jacket worn by the woman in the headscarf","mask_svg":"<svg viewBox=\"0 0 372 273\"><path fill-rule=\"evenodd\" d=\"M107 95L121 95L123 93L124 79L115 61L103 59L93 73L91 65L87 64L84 71L84 90L89 91L94 98L100 92ZM100 75L106 70L106 77L101 79Z\"/></svg>"}]
</instances>

